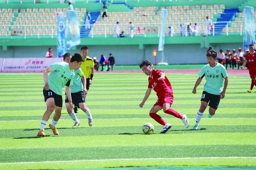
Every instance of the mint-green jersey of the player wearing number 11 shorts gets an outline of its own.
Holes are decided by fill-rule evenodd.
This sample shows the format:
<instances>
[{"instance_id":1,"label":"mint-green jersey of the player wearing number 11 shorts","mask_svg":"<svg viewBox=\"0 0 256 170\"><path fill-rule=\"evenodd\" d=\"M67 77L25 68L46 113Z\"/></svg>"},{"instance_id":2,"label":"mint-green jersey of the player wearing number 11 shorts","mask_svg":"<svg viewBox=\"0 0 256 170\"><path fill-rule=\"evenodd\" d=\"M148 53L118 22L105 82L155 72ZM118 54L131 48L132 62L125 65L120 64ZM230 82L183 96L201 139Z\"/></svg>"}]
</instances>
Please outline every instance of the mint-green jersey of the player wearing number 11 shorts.
<instances>
[{"instance_id":1,"label":"mint-green jersey of the player wearing number 11 shorts","mask_svg":"<svg viewBox=\"0 0 256 170\"><path fill-rule=\"evenodd\" d=\"M74 70L69 70L69 64L66 62L56 62L51 64L52 72L48 76L50 90L58 95L62 95L62 88L69 80L75 77ZM70 83L70 85L72 82Z\"/></svg>"}]
</instances>

